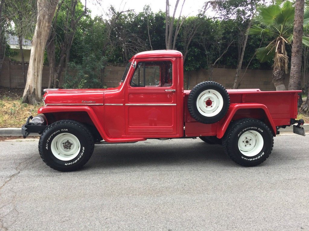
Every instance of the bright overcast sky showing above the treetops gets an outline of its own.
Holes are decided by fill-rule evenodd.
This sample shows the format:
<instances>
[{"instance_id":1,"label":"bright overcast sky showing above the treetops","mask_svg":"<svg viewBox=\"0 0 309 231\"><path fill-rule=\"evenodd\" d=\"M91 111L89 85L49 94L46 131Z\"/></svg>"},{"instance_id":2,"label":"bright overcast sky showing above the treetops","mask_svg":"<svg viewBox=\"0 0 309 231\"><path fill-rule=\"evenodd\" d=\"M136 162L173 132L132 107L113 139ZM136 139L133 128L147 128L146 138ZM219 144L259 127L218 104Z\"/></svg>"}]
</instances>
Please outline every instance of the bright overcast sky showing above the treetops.
<instances>
[{"instance_id":1,"label":"bright overcast sky showing above the treetops","mask_svg":"<svg viewBox=\"0 0 309 231\"><path fill-rule=\"evenodd\" d=\"M153 12L158 12L159 10L165 11L165 2L166 0L102 0L100 1L100 5L96 4L98 0L90 0L87 1L87 7L91 10L91 16L92 18L95 15L104 15L105 11L108 9L110 5L113 5L116 10L135 10L135 12L141 12L143 11L143 8L145 5L150 5ZM182 15L188 16L188 15L197 15L198 10L202 9L203 4L206 0L186 0L184 3L184 8L182 10ZM83 2L83 1L82 1ZM182 0L178 4L178 14L181 9ZM170 0L171 10L174 10L176 0ZM172 14L172 13L170 13ZM212 14L212 12L209 10L208 14Z\"/></svg>"}]
</instances>

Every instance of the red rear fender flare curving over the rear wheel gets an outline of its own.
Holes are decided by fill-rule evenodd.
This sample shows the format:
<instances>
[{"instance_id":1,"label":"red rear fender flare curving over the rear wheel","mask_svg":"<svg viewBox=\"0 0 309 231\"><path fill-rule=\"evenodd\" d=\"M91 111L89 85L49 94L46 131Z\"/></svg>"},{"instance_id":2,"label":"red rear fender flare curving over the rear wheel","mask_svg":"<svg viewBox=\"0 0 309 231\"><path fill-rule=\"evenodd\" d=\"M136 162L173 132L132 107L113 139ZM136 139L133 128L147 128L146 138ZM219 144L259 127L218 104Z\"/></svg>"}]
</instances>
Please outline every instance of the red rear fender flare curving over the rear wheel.
<instances>
[{"instance_id":1,"label":"red rear fender flare curving over the rear wheel","mask_svg":"<svg viewBox=\"0 0 309 231\"><path fill-rule=\"evenodd\" d=\"M218 125L218 127L217 127L217 137L219 139L221 139L224 136L226 129L230 125L234 115L236 114L236 112L238 110L241 110L241 109L261 109L264 113L263 117L264 117L265 123L268 124L268 126L270 127L270 130L272 131L273 136L276 136L276 126L273 122L273 119L272 119L272 117L269 113L268 108L264 104L260 104L260 103L231 103L225 118L222 119L222 121L223 121L222 124Z\"/></svg>"}]
</instances>

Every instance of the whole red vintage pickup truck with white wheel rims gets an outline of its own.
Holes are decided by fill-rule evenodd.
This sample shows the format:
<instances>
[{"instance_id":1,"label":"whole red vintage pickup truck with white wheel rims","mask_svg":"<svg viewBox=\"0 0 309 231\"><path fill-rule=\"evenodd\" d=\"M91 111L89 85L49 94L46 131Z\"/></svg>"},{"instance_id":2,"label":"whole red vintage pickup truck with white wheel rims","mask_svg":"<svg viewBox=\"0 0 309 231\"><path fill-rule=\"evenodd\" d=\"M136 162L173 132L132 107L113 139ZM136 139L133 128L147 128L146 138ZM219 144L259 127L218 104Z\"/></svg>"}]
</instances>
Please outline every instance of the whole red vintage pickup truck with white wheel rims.
<instances>
[{"instance_id":1,"label":"whole red vintage pickup truck with white wheel rims","mask_svg":"<svg viewBox=\"0 0 309 231\"><path fill-rule=\"evenodd\" d=\"M187 91L183 77L179 51L138 53L118 87L45 89L45 106L28 118L23 135L41 134L40 156L59 171L81 168L94 144L196 137L255 166L269 157L279 128L297 123L294 132L305 135L295 119L301 91L226 90L211 81Z\"/></svg>"}]
</instances>

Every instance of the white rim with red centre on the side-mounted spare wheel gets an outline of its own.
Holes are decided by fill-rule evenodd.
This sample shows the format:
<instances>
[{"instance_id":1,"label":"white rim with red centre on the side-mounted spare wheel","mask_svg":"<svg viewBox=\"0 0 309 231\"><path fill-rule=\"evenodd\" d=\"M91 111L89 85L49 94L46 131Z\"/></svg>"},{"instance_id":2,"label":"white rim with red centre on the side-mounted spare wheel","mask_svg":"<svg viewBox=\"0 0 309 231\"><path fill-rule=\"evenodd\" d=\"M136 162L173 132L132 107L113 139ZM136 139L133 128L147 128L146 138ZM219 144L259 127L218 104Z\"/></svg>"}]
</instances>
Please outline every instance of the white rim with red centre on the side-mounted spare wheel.
<instances>
[{"instance_id":1,"label":"white rim with red centre on the side-mounted spare wheel","mask_svg":"<svg viewBox=\"0 0 309 231\"><path fill-rule=\"evenodd\" d=\"M197 97L196 106L201 115L218 115L223 107L222 95L213 89L205 90Z\"/></svg>"}]
</instances>

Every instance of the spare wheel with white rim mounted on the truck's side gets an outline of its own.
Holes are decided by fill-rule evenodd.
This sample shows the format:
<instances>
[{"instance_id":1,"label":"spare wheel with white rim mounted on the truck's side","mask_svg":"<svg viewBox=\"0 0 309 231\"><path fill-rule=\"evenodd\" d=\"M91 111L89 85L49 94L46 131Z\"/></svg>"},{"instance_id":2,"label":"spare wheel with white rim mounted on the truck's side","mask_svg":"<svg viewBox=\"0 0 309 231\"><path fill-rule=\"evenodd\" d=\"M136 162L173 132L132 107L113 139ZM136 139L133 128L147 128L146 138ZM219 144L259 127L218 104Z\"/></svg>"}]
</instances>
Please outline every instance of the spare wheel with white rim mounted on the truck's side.
<instances>
[{"instance_id":1,"label":"spare wheel with white rim mounted on the truck's side","mask_svg":"<svg viewBox=\"0 0 309 231\"><path fill-rule=\"evenodd\" d=\"M191 116L203 124L213 124L221 120L229 106L230 96L226 89L212 81L197 84L188 96Z\"/></svg>"}]
</instances>

